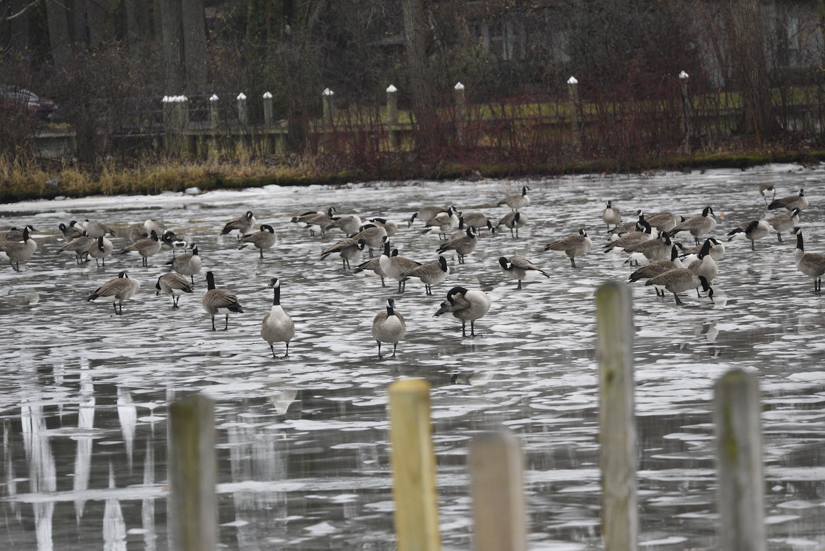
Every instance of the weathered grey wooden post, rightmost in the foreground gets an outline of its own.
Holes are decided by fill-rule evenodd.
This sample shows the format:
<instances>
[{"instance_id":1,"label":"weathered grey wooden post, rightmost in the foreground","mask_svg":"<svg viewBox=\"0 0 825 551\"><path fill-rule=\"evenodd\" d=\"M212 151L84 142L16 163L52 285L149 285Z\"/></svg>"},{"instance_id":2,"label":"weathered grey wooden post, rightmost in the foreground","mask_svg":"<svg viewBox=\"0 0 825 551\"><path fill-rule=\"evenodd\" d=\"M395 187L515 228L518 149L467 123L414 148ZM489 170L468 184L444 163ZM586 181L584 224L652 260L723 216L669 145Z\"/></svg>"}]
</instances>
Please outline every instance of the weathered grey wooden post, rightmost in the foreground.
<instances>
[{"instance_id":1,"label":"weathered grey wooden post, rightmost in the foreground","mask_svg":"<svg viewBox=\"0 0 825 551\"><path fill-rule=\"evenodd\" d=\"M759 413L754 375L731 370L714 385L722 551L767 549Z\"/></svg>"}]
</instances>

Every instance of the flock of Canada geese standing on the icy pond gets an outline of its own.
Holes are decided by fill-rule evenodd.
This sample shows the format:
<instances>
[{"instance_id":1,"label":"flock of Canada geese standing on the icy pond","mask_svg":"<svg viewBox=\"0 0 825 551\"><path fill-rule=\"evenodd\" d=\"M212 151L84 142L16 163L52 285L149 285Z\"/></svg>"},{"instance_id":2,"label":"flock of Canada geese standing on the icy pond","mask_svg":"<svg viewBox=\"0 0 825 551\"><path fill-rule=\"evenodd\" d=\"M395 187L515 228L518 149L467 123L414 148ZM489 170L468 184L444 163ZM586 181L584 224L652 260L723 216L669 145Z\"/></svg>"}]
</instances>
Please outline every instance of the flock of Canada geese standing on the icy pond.
<instances>
[{"instance_id":1,"label":"flock of Canada geese standing on the icy pond","mask_svg":"<svg viewBox=\"0 0 825 551\"><path fill-rule=\"evenodd\" d=\"M523 186L521 193L507 195L498 202L499 206L510 209L501 219L495 222L481 212L462 213L451 205L424 205L408 219L408 227L423 224L423 233L437 232L440 244L436 249L439 255L436 260L426 263L414 261L411 258L398 254L398 249L392 249L390 238L398 233L398 224L391 219L374 218L362 220L358 215L337 216L334 207L324 211L312 211L297 214L292 223L309 230L310 236L324 236L328 232L340 231L346 237L341 238L321 253L322 258L337 254L342 260L342 267L353 273L374 271L381 278L381 285L385 280L395 280L398 283L398 293L406 290L406 282L410 279L420 280L426 294L432 294L432 285L445 280L450 273L450 266L444 256L446 253L455 254L458 264L463 264L465 258L476 250L479 236L482 233L494 235L502 231L509 231L512 238L518 237L519 228L528 224L524 210L530 205L528 186ZM755 243L771 233L776 233L782 241L782 233L793 233L797 244L794 252L796 266L805 275L813 277L814 291L821 289L821 279L825 273L825 254L804 252L802 230L799 224L799 215L808 207L808 200L804 190L798 195L788 195L780 199L771 197L768 201L767 193L774 191L771 184L760 186L760 193L764 197L768 210L780 210L766 219L752 219L737 224L728 232L728 241L743 236ZM774 191L775 192L775 191ZM711 286L718 273L716 261L724 256L724 244L713 236L717 222L714 210L707 206L700 214L684 218L670 212L643 213L637 210L633 219L623 223L623 216L611 201L607 201L602 211L601 220L607 227L608 241L602 246L603 252L620 252L627 256L625 263L634 266L635 271L629 275L629 282L644 281L644 285L656 288L659 296L665 296L665 291L673 294L677 305L684 304L680 294L689 290L704 291L712 301L714 291ZM256 231L257 228L257 231ZM106 224L86 219L82 222L72 221L68 225L59 224L65 244L58 254L73 254L80 265L93 258L98 266L106 266L106 259L114 255L132 255L141 257L143 266L148 266L148 259L157 255L163 247L172 249L172 260L165 263L168 271L158 276L155 285L156 294L166 294L172 297L172 308L178 308L178 299L182 294L194 292L195 275L201 271L198 247L192 244L192 239L181 233L175 233L165 228L161 222L147 220L143 224L134 224L128 228L130 243L115 251L110 239L115 232ZM0 253L8 258L12 269L21 270L21 263L26 263L37 249L37 243L31 237L35 228L27 225L25 228L12 228L3 240L0 240ZM229 220L221 230L221 235L237 234L238 248L255 247L260 257L276 243L275 228L269 224L257 226L252 211ZM676 243L676 236L690 235L695 247L683 247ZM2 237L2 236L0 236ZM591 252L592 239L587 231L581 228L577 233L559 238L544 246L544 251L561 252L570 260L572 268L576 268L576 259ZM361 259L363 252L369 253L369 260L357 264L354 268L351 261ZM375 256L374 251L381 251ZM502 256L498 258L498 268L502 275L517 280L517 289L522 288L522 280L529 275L540 274L545 277L551 275L530 259L521 254ZM229 328L229 315L243 313L238 296L231 290L219 288L215 285L215 275L212 271L205 273L207 288L201 298L202 308L210 315L211 327L214 331L215 317L224 316L224 330ZM295 323L290 315L281 307L281 280L271 278L269 286L273 290L272 306L262 321L261 337L270 346L273 357L278 357L275 351L276 343L285 344L285 354L289 357L290 341L295 337ZM131 278L125 271L120 271L116 278L106 281L87 296L89 301L107 302L112 304L115 315L120 315L123 303L139 291L139 281ZM446 299L434 316L450 314L461 323L462 337L475 337L475 321L488 313L490 308L488 294L479 289L467 289L456 285L446 293ZM387 299L385 308L375 315L371 327L372 337L378 344L378 357L382 359L382 344L392 344L393 354L406 335L406 325L403 315L395 308L394 299Z\"/></svg>"}]
</instances>

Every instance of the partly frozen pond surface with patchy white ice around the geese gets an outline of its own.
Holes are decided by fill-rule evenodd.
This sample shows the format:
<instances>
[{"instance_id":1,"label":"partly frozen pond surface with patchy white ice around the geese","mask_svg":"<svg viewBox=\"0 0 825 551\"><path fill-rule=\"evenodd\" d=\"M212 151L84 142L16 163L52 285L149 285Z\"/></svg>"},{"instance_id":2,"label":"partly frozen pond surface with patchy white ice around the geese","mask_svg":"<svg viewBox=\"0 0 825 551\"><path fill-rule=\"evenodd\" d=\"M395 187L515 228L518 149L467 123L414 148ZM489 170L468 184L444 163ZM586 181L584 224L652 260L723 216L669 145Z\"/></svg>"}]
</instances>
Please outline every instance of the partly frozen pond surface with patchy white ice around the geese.
<instances>
[{"instance_id":1,"label":"partly frozen pond surface with patchy white ice around the geese","mask_svg":"<svg viewBox=\"0 0 825 551\"><path fill-rule=\"evenodd\" d=\"M398 185L267 187L202 195L90 198L0 205L0 227L36 228L39 248L24 271L0 264L2 511L7 549L167 549L167 401L203 392L216 400L221 549L394 549L386 412L387 385L403 376L432 386L444 549L471 549L467 446L479 431L507 426L526 450L530 549L599 549L595 305L605 280L626 280L626 255L603 254L601 210L613 200L633 219L652 213L718 215L717 237L765 215L758 184L777 197L804 187L806 250L825 252L825 168L791 165L747 172L650 177L568 177L530 181L408 182ZM352 275L320 252L342 237L310 237L290 218L334 205L341 214L398 221L391 239L403 256L436 259L439 240L407 220L425 204L481 210L500 219L503 196L530 186L519 239L486 233L466 263L433 296L410 281ZM254 211L278 242L238 250L219 237L224 223ZM172 300L154 284L172 258L113 257L76 266L55 256L58 224L97 219L117 230L146 219L191 235L204 269L196 292ZM587 228L594 245L577 258L544 252L550 241ZM727 243L714 280L716 301L659 299L635 284L639 504L643 549L714 549L714 441L710 391L726 370L758 374L764 403L766 517L771 549L825 544L825 318L811 278L794 266L785 234ZM679 240L690 242L688 236ZM497 259L521 252L551 278L516 290ZM366 259L366 252L362 255ZM355 266L356 262L353 262ZM126 270L141 283L122 316L85 300ZM200 306L205 271L238 294L244 313L211 332ZM270 278L297 335L288 360L260 337ZM486 290L493 301L475 339L454 319L433 318L453 285ZM384 299L407 319L395 360L378 361L370 337ZM223 318L219 316L219 327ZM276 351L283 353L276 345Z\"/></svg>"}]
</instances>

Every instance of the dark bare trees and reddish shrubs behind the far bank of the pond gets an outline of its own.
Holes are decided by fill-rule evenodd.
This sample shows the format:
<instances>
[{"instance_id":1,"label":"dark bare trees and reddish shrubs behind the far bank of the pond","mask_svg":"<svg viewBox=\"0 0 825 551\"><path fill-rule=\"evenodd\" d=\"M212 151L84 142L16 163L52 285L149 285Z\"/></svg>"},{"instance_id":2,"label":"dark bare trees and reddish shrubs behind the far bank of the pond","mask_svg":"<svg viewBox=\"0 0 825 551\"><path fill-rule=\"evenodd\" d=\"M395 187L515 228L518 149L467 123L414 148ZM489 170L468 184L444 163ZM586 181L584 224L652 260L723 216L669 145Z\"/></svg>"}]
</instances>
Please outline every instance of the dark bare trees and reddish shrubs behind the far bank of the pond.
<instances>
[{"instance_id":1,"label":"dark bare trees and reddish shrubs behind the far bank of the pond","mask_svg":"<svg viewBox=\"0 0 825 551\"><path fill-rule=\"evenodd\" d=\"M410 158L630 164L732 139L815 148L825 127L823 0L9 0L0 9L0 84L59 103L55 120L77 133L80 165L163 158L161 98L177 95L208 120L213 94L231 118L238 93L270 92L287 147L306 156L318 152L314 121L332 89L340 139L324 157L375 175ZM390 84L411 114L414 157L381 130ZM262 120L260 101L249 108ZM44 126L7 110L0 119L2 155L30 154Z\"/></svg>"}]
</instances>

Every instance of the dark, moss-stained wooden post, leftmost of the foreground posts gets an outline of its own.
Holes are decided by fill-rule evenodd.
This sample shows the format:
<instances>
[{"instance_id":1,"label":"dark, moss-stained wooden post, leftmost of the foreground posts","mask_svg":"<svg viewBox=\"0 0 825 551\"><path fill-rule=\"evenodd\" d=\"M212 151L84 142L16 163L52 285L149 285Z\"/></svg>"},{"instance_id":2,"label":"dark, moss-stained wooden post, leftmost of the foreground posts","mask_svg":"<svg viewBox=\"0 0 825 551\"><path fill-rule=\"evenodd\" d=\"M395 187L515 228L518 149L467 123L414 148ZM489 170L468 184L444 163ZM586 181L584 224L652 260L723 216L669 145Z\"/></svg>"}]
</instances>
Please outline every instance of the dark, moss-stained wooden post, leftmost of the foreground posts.
<instances>
[{"instance_id":1,"label":"dark, moss-stained wooden post, leftmost of the foreground posts","mask_svg":"<svg viewBox=\"0 0 825 551\"><path fill-rule=\"evenodd\" d=\"M218 535L214 403L201 394L169 405L170 549L214 551Z\"/></svg>"}]
</instances>

